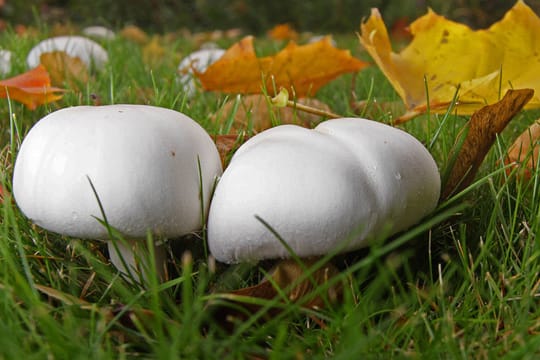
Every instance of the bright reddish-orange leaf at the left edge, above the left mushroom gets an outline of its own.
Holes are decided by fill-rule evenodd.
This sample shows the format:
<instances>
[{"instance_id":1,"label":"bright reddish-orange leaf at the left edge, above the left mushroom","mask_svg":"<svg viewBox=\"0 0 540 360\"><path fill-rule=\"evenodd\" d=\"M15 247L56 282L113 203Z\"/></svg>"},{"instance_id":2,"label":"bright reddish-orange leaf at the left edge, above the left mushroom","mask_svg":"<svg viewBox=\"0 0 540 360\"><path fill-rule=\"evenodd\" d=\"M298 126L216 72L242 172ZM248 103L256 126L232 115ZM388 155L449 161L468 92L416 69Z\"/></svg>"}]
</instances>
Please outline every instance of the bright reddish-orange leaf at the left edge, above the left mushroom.
<instances>
[{"instance_id":1,"label":"bright reddish-orange leaf at the left edge, above the left mushroom","mask_svg":"<svg viewBox=\"0 0 540 360\"><path fill-rule=\"evenodd\" d=\"M0 80L0 98L19 101L30 110L62 98L58 92L64 91L51 87L49 73L43 65L9 79Z\"/></svg>"}]
</instances>

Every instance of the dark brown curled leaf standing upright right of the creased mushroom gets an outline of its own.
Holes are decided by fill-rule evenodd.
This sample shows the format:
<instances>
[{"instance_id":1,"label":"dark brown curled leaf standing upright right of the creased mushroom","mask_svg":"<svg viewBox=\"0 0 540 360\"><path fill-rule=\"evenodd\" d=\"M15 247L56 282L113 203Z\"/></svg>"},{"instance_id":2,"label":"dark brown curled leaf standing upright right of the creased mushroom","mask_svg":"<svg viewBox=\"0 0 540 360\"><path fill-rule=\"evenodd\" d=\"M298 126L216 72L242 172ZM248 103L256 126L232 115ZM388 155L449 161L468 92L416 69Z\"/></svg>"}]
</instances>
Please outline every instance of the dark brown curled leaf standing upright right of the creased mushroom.
<instances>
[{"instance_id":1,"label":"dark brown curled leaf standing upright right of the creased mushroom","mask_svg":"<svg viewBox=\"0 0 540 360\"><path fill-rule=\"evenodd\" d=\"M456 160L444 185L442 199L448 198L472 183L497 135L532 99L533 94L534 91L531 89L508 90L501 101L484 106L471 116L463 130L466 137L457 152Z\"/></svg>"}]
</instances>

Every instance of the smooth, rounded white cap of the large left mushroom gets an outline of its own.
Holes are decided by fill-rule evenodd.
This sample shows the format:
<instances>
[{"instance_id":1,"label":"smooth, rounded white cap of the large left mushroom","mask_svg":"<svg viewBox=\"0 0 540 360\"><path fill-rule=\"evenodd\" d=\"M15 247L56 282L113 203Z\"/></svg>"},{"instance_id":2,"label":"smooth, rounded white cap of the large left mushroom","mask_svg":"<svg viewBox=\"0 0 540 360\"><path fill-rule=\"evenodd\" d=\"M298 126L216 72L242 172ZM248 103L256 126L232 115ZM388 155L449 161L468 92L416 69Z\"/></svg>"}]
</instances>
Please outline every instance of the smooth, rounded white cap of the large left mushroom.
<instances>
[{"instance_id":1,"label":"smooth, rounded white cap of the large left mushroom","mask_svg":"<svg viewBox=\"0 0 540 360\"><path fill-rule=\"evenodd\" d=\"M15 162L13 194L47 230L105 239L91 181L107 221L126 237L175 237L201 228L221 172L212 139L184 114L145 105L77 106L30 130Z\"/></svg>"}]
</instances>

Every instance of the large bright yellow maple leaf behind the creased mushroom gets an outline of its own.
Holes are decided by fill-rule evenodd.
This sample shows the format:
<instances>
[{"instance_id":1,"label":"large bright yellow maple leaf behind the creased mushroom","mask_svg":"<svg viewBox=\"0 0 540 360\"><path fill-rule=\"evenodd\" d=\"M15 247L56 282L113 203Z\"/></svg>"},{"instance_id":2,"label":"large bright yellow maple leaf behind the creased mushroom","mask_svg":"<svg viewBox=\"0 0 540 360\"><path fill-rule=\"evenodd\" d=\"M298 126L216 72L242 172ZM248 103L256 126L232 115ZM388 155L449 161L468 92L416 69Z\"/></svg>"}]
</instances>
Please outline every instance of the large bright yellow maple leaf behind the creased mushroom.
<instances>
[{"instance_id":1,"label":"large bright yellow maple leaf behind the creased mushroom","mask_svg":"<svg viewBox=\"0 0 540 360\"><path fill-rule=\"evenodd\" d=\"M540 18L523 1L488 29L474 31L430 9L410 31L413 40L395 53L377 9L360 26L360 43L408 109L398 123L425 112L428 97L431 111L446 111L458 88L460 114L497 102L509 89L537 90L527 108L540 106Z\"/></svg>"}]
</instances>

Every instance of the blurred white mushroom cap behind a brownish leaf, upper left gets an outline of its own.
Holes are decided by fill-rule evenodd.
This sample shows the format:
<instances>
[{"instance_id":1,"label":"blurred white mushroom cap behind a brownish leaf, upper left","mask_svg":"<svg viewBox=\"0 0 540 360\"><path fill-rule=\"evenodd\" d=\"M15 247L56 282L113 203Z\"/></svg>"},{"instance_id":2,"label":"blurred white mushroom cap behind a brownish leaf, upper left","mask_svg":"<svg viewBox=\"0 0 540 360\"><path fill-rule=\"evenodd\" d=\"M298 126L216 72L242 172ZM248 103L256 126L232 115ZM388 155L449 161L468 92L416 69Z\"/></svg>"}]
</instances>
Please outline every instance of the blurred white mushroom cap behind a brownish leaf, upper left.
<instances>
[{"instance_id":1,"label":"blurred white mushroom cap behind a brownish leaf, upper left","mask_svg":"<svg viewBox=\"0 0 540 360\"><path fill-rule=\"evenodd\" d=\"M71 57L78 57L86 66L95 65L102 68L109 60L107 51L97 42L83 36L57 36L45 39L34 46L26 57L28 67L39 65L41 54L53 51L64 51Z\"/></svg>"}]
</instances>

